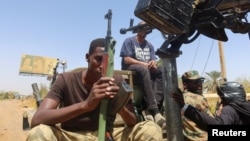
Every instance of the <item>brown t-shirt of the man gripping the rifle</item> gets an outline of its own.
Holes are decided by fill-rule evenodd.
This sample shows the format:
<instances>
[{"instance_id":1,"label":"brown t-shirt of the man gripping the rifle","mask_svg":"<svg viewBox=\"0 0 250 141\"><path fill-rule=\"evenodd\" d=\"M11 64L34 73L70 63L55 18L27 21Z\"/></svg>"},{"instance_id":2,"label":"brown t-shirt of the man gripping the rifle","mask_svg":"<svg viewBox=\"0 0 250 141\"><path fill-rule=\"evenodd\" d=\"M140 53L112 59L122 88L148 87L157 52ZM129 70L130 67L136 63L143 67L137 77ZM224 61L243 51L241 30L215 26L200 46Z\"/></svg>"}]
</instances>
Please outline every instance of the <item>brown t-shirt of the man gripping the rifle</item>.
<instances>
[{"instance_id":1,"label":"brown t-shirt of the man gripping the rifle","mask_svg":"<svg viewBox=\"0 0 250 141\"><path fill-rule=\"evenodd\" d=\"M123 79L117 77L121 76L114 76L116 83L119 84L118 81ZM60 108L85 101L89 93L81 79L82 71L59 74L46 98L60 102ZM61 123L61 127L70 131L97 130L99 109L98 106L93 111L65 121Z\"/></svg>"}]
</instances>

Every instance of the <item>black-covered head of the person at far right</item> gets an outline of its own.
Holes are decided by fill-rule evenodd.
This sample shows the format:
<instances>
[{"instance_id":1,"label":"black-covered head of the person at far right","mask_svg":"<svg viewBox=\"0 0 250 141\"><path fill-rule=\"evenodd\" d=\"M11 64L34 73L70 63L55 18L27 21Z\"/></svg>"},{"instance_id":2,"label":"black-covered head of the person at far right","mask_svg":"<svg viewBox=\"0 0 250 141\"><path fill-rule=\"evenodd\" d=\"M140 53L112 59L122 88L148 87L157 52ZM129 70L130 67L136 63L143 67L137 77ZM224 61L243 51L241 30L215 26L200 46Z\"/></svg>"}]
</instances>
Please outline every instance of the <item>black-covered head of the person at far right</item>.
<instances>
[{"instance_id":1,"label":"black-covered head of the person at far right","mask_svg":"<svg viewBox=\"0 0 250 141\"><path fill-rule=\"evenodd\" d=\"M244 102L246 101L246 92L238 82L225 82L220 86L217 86L217 94L221 98L223 105L227 105L231 102Z\"/></svg>"}]
</instances>

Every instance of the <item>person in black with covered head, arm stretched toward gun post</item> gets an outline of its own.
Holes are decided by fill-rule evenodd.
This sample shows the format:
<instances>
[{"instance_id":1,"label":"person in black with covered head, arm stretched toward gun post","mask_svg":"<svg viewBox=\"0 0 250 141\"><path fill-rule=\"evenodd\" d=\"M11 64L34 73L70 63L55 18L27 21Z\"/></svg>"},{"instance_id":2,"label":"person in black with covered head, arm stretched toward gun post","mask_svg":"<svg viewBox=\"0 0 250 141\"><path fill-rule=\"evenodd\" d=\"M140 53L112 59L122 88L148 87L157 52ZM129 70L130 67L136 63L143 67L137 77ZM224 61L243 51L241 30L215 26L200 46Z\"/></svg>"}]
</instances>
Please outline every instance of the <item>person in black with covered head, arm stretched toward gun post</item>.
<instances>
[{"instance_id":1,"label":"person in black with covered head, arm stretched toward gun post","mask_svg":"<svg viewBox=\"0 0 250 141\"><path fill-rule=\"evenodd\" d=\"M182 114L205 131L208 130L208 125L250 124L250 102L246 101L246 92L242 84L225 82L217 86L217 94L221 98L222 109L215 117L208 116L196 107L185 103L181 93L175 93L172 96L182 108Z\"/></svg>"}]
</instances>

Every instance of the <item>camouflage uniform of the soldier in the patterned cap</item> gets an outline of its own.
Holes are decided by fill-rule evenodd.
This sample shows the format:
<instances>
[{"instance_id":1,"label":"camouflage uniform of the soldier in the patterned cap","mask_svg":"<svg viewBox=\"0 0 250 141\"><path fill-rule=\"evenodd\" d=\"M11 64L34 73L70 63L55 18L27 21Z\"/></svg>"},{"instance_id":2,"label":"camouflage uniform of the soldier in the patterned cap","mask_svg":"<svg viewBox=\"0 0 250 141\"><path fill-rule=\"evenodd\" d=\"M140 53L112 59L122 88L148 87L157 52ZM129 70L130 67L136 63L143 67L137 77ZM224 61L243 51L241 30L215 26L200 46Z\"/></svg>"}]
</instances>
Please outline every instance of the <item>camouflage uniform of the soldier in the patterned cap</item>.
<instances>
[{"instance_id":1,"label":"camouflage uniform of the soldier in the patterned cap","mask_svg":"<svg viewBox=\"0 0 250 141\"><path fill-rule=\"evenodd\" d=\"M192 105L196 109L213 116L207 99L202 95L185 92L183 94L186 104ZM193 121L189 120L185 116L182 116L183 122L183 134L190 141L207 141L207 132L199 129Z\"/></svg>"}]
</instances>

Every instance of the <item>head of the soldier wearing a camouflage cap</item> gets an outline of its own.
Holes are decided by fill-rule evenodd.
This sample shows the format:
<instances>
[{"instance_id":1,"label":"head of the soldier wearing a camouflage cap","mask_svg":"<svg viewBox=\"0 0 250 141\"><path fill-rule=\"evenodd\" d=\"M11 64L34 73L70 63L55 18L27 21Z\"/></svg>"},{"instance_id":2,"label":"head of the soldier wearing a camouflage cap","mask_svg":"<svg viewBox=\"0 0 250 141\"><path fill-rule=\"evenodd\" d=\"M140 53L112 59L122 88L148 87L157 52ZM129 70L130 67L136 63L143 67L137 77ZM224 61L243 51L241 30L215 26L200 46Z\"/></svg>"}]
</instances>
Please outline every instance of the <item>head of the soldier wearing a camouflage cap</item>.
<instances>
[{"instance_id":1,"label":"head of the soldier wearing a camouflage cap","mask_svg":"<svg viewBox=\"0 0 250 141\"><path fill-rule=\"evenodd\" d=\"M202 94L203 93L203 83L205 78L201 77L196 70L191 70L185 72L182 76L182 84L184 90L195 94Z\"/></svg>"}]
</instances>

